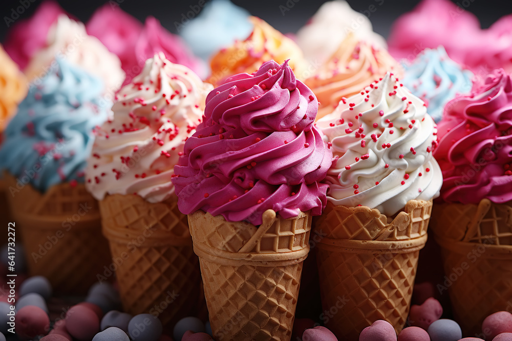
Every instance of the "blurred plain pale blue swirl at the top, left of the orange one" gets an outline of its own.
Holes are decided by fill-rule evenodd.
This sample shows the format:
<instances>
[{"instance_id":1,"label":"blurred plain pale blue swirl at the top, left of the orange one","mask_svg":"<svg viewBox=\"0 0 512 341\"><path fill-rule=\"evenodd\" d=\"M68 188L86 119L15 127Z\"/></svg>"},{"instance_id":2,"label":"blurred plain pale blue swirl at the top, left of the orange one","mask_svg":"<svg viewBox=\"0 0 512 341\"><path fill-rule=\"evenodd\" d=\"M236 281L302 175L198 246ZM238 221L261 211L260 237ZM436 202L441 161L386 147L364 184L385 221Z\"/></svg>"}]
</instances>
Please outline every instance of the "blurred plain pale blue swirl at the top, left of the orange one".
<instances>
[{"instance_id":1,"label":"blurred plain pale blue swirl at the top, left of the orange one","mask_svg":"<svg viewBox=\"0 0 512 341\"><path fill-rule=\"evenodd\" d=\"M198 17L178 27L178 32L194 54L208 60L214 52L230 46L235 39L243 40L249 36L252 32L249 15L229 0L212 0Z\"/></svg>"}]
</instances>

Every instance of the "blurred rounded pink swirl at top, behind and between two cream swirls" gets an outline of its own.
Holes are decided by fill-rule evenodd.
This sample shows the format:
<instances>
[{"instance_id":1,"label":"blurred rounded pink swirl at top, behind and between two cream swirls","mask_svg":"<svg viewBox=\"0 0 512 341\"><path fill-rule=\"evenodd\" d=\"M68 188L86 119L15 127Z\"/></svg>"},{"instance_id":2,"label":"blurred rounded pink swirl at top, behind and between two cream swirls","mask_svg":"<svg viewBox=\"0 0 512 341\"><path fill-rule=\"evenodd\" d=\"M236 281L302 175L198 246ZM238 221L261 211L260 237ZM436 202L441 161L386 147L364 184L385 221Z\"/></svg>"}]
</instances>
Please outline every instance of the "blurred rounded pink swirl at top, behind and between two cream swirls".
<instances>
[{"instance_id":1,"label":"blurred rounded pink swirl at top, behind and between two cream swirls","mask_svg":"<svg viewBox=\"0 0 512 341\"><path fill-rule=\"evenodd\" d=\"M86 25L87 33L98 38L121 60L122 69L126 73L124 84L130 83L140 73L140 68L134 66L138 65L135 44L142 33L142 27L139 20L111 4L97 9ZM147 58L141 61L140 66L144 65Z\"/></svg>"}]
</instances>

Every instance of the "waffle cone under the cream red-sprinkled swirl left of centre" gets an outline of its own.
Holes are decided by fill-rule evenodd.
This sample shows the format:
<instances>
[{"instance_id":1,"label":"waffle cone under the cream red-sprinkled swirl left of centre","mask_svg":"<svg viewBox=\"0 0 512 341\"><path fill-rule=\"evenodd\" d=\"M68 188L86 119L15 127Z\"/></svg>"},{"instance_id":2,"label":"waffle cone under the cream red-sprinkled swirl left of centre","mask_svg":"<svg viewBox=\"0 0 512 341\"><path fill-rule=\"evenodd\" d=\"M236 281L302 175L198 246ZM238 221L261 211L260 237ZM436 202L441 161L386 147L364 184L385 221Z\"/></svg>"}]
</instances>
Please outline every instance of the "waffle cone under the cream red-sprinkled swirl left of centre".
<instances>
[{"instance_id":1,"label":"waffle cone under the cream red-sprinkled swirl left of centre","mask_svg":"<svg viewBox=\"0 0 512 341\"><path fill-rule=\"evenodd\" d=\"M201 274L177 198L150 203L115 194L100 209L124 310L158 315L167 328L196 314Z\"/></svg>"}]
</instances>

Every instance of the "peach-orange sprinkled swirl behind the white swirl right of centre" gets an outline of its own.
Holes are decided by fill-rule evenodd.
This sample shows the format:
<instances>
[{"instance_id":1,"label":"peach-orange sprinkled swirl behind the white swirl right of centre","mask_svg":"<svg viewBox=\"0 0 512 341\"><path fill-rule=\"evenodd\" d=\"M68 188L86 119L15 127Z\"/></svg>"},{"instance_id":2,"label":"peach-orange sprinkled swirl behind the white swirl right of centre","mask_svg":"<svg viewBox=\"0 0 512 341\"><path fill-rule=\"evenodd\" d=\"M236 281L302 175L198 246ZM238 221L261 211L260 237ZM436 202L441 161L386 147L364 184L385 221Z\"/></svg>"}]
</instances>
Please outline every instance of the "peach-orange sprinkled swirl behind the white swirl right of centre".
<instances>
[{"instance_id":1,"label":"peach-orange sprinkled swirl behind the white swirl right of centre","mask_svg":"<svg viewBox=\"0 0 512 341\"><path fill-rule=\"evenodd\" d=\"M360 41L353 34L347 35L329 60L305 80L320 103L316 119L328 115L343 98L361 92L387 72L397 78L403 74L388 51Z\"/></svg>"}]
</instances>

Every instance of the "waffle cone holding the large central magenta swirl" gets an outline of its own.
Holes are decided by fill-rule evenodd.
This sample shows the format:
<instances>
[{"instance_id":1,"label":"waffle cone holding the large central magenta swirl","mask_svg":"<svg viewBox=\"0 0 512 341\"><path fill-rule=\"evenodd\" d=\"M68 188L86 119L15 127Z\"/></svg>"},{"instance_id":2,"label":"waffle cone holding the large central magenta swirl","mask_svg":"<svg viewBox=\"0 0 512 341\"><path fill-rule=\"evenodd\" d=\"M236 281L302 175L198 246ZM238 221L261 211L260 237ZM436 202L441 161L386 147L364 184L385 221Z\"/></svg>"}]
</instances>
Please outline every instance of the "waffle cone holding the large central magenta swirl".
<instances>
[{"instance_id":1,"label":"waffle cone holding the large central magenta swirl","mask_svg":"<svg viewBox=\"0 0 512 341\"><path fill-rule=\"evenodd\" d=\"M309 253L309 213L283 219L267 210L258 228L203 211L188 222L216 340L289 341Z\"/></svg>"}]
</instances>

